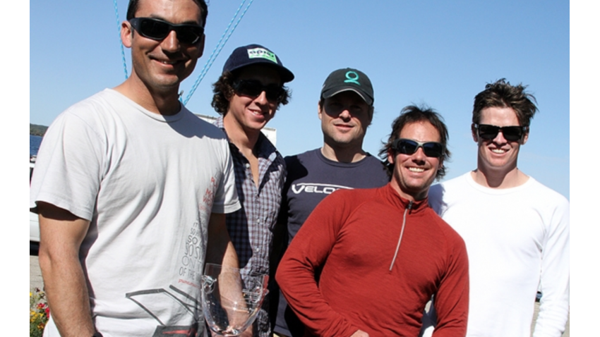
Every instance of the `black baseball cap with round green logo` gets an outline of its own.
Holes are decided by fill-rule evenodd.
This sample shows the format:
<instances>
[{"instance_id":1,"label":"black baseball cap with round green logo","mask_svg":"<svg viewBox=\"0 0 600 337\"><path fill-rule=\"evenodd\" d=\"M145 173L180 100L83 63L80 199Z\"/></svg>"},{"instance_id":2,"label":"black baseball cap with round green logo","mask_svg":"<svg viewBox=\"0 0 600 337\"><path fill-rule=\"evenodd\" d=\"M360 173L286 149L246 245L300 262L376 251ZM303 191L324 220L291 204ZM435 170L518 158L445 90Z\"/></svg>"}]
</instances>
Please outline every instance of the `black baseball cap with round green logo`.
<instances>
[{"instance_id":1,"label":"black baseball cap with round green logo","mask_svg":"<svg viewBox=\"0 0 600 337\"><path fill-rule=\"evenodd\" d=\"M344 68L330 73L323 83L321 97L330 98L344 91L356 92L368 105L373 105L375 100L371 80L358 69Z\"/></svg>"}]
</instances>

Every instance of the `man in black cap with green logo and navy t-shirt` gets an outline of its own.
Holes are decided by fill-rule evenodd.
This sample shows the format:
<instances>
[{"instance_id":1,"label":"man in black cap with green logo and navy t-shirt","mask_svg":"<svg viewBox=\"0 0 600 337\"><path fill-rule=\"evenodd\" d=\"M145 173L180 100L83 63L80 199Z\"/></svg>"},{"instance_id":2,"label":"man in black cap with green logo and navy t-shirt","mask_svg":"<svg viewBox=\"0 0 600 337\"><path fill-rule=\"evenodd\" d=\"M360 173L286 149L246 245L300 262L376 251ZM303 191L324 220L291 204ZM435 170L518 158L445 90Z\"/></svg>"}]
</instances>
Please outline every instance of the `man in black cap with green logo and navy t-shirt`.
<instances>
[{"instance_id":1,"label":"man in black cap with green logo and navy t-shirt","mask_svg":"<svg viewBox=\"0 0 600 337\"><path fill-rule=\"evenodd\" d=\"M318 116L323 129L323 147L286 157L280 223L292 239L316 205L339 189L376 188L388 183L383 164L362 148L373 119L373 85L363 72L353 68L330 73L323 83ZM304 326L280 295L276 336L303 336Z\"/></svg>"}]
</instances>

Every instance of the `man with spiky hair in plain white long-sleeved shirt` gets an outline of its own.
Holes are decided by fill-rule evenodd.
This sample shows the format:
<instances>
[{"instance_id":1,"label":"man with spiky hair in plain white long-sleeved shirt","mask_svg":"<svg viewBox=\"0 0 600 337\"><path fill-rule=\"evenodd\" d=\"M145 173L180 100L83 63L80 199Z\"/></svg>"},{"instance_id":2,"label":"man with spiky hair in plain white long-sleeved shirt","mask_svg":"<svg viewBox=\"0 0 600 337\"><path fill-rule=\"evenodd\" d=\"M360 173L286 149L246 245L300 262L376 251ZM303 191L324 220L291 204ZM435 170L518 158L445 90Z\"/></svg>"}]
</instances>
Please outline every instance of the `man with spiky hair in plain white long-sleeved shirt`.
<instances>
[{"instance_id":1,"label":"man with spiky hair in plain white long-sleeved shirt","mask_svg":"<svg viewBox=\"0 0 600 337\"><path fill-rule=\"evenodd\" d=\"M570 204L517 167L537 111L523 85L504 79L475 97L477 169L431 188L436 212L469 254L467 336L560 337L570 310Z\"/></svg>"}]
</instances>

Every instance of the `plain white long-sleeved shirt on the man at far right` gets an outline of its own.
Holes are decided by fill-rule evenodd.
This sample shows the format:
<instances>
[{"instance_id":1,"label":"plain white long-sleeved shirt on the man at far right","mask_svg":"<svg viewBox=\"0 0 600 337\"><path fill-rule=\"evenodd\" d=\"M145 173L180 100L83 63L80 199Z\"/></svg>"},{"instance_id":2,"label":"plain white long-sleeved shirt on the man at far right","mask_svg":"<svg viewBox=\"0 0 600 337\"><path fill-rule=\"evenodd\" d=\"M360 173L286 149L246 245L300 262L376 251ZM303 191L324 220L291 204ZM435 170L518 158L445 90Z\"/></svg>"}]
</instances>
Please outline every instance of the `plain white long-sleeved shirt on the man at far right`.
<instances>
[{"instance_id":1,"label":"plain white long-sleeved shirt on the man at far right","mask_svg":"<svg viewBox=\"0 0 600 337\"><path fill-rule=\"evenodd\" d=\"M570 306L570 204L529 178L516 188L485 188L471 173L434 185L433 209L469 255L467 336L560 337Z\"/></svg>"}]
</instances>

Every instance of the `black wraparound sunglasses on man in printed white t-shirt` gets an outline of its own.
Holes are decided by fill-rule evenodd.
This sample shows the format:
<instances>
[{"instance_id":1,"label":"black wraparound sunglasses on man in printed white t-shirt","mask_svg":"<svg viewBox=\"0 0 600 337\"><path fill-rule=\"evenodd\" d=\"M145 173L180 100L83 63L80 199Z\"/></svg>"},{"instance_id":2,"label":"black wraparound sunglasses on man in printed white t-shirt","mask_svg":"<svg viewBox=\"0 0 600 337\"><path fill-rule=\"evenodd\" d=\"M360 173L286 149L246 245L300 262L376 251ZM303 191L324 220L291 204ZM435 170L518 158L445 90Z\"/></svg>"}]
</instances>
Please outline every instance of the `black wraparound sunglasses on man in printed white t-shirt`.
<instances>
[{"instance_id":1,"label":"black wraparound sunglasses on man in printed white t-shirt","mask_svg":"<svg viewBox=\"0 0 600 337\"><path fill-rule=\"evenodd\" d=\"M143 37L160 41L167 37L174 30L177 33L177 39L183 44L196 44L204 34L204 28L199 25L190 25L182 23L174 25L167 21L155 18L132 18L129 23Z\"/></svg>"}]
</instances>

